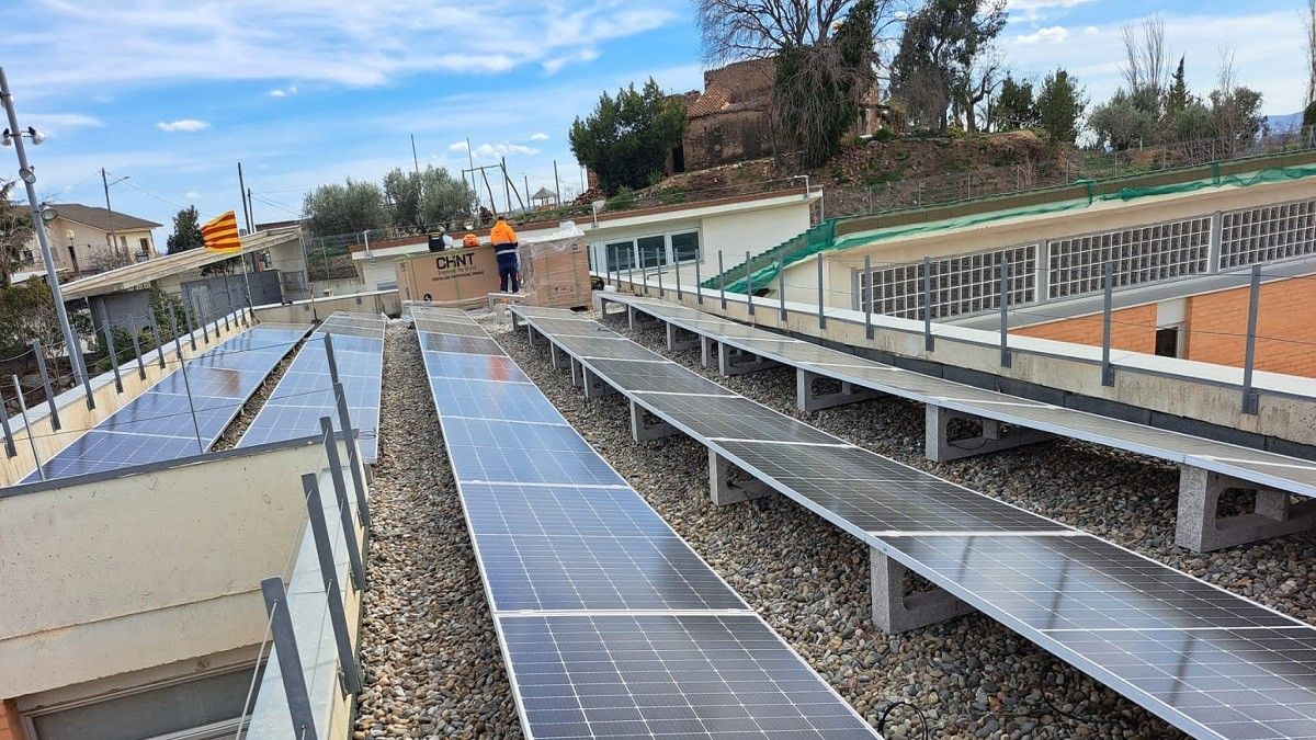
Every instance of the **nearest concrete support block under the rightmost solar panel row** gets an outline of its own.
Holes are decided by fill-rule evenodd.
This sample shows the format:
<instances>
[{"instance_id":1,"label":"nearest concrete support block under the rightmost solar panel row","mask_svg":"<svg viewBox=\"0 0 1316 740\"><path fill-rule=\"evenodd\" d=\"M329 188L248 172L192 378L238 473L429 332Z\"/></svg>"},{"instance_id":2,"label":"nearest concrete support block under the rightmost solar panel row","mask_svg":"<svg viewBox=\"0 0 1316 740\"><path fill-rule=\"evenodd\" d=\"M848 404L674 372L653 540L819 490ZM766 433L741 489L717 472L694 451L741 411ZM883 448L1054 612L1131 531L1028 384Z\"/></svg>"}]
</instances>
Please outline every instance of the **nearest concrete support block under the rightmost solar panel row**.
<instances>
[{"instance_id":1,"label":"nearest concrete support block under the rightmost solar panel row","mask_svg":"<svg viewBox=\"0 0 1316 740\"><path fill-rule=\"evenodd\" d=\"M1252 514L1219 516L1220 496L1252 491ZM1179 466L1179 511L1174 544L1204 553L1316 528L1316 499L1295 503L1284 491L1266 489L1202 467Z\"/></svg>"}]
</instances>

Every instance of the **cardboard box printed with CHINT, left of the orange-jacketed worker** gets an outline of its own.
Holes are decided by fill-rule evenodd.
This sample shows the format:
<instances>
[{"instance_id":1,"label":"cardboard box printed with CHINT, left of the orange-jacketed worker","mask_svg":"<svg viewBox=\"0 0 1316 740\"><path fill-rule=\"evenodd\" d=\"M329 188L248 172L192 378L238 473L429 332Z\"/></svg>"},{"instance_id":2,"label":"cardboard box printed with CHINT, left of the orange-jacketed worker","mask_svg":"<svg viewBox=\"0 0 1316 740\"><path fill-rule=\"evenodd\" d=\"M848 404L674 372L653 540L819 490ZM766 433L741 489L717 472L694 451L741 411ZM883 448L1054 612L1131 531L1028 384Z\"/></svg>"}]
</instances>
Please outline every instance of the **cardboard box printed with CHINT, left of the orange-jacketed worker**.
<instances>
[{"instance_id":1,"label":"cardboard box printed with CHINT, left of the orange-jacketed worker","mask_svg":"<svg viewBox=\"0 0 1316 740\"><path fill-rule=\"evenodd\" d=\"M474 307L497 292L497 259L492 246L450 249L397 259L397 292L403 300Z\"/></svg>"}]
</instances>

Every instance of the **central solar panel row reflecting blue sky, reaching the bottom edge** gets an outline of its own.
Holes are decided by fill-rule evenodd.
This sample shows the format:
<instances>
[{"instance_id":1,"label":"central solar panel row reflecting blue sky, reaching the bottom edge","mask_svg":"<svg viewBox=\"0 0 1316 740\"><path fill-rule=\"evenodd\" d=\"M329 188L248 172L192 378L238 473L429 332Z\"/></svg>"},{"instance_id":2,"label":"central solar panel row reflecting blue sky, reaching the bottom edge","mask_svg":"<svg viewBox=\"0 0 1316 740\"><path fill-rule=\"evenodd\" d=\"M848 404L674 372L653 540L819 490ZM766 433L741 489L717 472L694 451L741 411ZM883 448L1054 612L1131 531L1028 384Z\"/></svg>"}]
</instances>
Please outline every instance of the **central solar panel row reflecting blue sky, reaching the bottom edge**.
<instances>
[{"instance_id":1,"label":"central solar panel row reflecting blue sky, reaching the bottom edge","mask_svg":"<svg viewBox=\"0 0 1316 740\"><path fill-rule=\"evenodd\" d=\"M874 737L459 311L412 307L529 737Z\"/></svg>"}]
</instances>

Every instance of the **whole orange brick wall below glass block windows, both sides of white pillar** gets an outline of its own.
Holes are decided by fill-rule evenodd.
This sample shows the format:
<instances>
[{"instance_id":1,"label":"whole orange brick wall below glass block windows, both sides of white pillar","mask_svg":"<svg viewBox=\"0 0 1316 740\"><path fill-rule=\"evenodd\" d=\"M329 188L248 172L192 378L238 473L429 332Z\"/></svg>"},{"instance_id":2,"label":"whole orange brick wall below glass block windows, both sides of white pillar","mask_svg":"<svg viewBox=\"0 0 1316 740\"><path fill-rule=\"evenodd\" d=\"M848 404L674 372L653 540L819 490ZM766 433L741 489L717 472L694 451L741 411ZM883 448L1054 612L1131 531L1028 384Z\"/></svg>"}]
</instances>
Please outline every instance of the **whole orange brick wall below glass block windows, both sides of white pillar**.
<instances>
[{"instance_id":1,"label":"whole orange brick wall below glass block windows, both sides of white pillar","mask_svg":"<svg viewBox=\"0 0 1316 740\"><path fill-rule=\"evenodd\" d=\"M1187 359L1242 366L1248 292L1246 287L1238 287L1187 299ZM1257 370L1316 378L1316 275L1263 283L1259 305ZM1112 321L1111 346L1148 354L1155 352L1154 304L1116 311ZM1101 315L1024 327L1012 333L1100 346Z\"/></svg>"}]
</instances>

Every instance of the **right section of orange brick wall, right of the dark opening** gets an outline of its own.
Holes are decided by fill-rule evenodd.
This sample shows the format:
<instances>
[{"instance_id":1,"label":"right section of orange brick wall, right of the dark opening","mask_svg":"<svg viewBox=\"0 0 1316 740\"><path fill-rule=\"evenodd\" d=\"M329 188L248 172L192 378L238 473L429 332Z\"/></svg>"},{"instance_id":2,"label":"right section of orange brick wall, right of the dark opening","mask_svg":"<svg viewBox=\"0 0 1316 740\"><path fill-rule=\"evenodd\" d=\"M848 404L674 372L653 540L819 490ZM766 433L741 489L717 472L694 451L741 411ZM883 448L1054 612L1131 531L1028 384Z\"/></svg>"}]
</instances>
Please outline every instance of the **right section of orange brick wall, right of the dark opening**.
<instances>
[{"instance_id":1,"label":"right section of orange brick wall, right of the dark opening","mask_svg":"<svg viewBox=\"0 0 1316 740\"><path fill-rule=\"evenodd\" d=\"M1188 359L1242 366L1248 288L1188 299ZM1316 275L1262 283L1257 370L1316 377Z\"/></svg>"}]
</instances>

